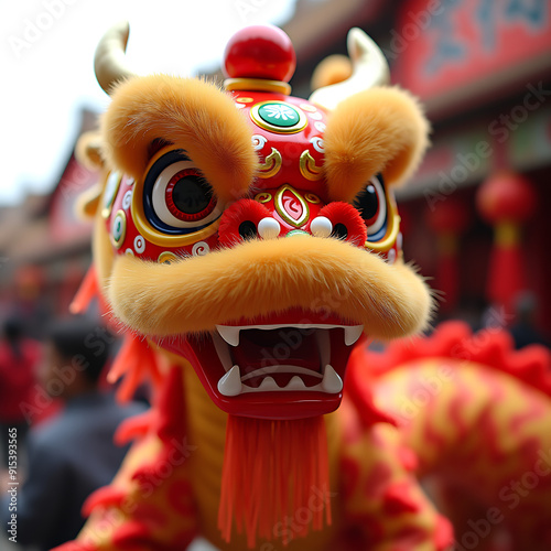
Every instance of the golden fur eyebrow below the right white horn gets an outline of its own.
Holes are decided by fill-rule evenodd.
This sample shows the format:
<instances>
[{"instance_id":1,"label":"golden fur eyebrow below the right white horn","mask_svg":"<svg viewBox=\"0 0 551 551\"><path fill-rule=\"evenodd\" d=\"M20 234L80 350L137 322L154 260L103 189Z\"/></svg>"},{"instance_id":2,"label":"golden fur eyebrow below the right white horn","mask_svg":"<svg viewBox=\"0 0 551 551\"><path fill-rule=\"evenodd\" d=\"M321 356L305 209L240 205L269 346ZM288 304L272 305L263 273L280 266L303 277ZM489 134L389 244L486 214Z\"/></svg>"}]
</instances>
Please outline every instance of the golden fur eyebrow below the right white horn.
<instances>
[{"instance_id":1,"label":"golden fur eyebrow below the right white horn","mask_svg":"<svg viewBox=\"0 0 551 551\"><path fill-rule=\"evenodd\" d=\"M406 181L429 144L428 133L418 102L399 88L377 87L342 101L324 136L331 198L352 203L379 172L388 184Z\"/></svg>"}]
</instances>

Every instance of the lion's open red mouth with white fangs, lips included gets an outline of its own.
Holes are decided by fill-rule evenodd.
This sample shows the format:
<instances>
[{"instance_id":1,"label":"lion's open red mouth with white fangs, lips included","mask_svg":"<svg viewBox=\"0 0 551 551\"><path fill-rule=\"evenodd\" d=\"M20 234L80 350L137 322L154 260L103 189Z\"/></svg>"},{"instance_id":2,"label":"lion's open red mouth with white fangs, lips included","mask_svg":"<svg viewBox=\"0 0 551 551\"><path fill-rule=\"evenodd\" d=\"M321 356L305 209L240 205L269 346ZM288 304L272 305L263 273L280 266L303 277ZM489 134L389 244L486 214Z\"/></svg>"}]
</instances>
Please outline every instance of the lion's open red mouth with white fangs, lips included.
<instances>
[{"instance_id":1,"label":"lion's open red mouth with white fangs, lips included","mask_svg":"<svg viewBox=\"0 0 551 551\"><path fill-rule=\"evenodd\" d=\"M301 311L216 325L213 333L160 345L190 360L224 411L298 419L338 408L348 356L363 331L337 316Z\"/></svg>"}]
</instances>

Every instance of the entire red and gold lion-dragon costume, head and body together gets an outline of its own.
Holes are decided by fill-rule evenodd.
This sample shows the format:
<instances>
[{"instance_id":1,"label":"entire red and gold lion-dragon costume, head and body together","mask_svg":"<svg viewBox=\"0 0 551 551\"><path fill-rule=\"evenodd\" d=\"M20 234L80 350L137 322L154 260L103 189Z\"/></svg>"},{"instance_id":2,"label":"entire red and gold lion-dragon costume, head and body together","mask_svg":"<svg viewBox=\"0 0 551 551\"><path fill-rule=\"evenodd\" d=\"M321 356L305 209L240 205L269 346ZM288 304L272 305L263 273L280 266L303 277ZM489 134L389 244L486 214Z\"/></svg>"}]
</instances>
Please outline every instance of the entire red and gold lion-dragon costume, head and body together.
<instances>
[{"instance_id":1,"label":"entire red and gold lion-dragon costume, head and body together","mask_svg":"<svg viewBox=\"0 0 551 551\"><path fill-rule=\"evenodd\" d=\"M133 75L127 39L98 46L112 102L82 145L104 179L76 306L99 294L128 332L111 379L125 397L150 375L155 399L61 549L549 549L549 354L458 324L409 338L432 299L392 187L428 125L375 44L354 30L352 76L305 100L279 30L230 41L225 91Z\"/></svg>"}]
</instances>

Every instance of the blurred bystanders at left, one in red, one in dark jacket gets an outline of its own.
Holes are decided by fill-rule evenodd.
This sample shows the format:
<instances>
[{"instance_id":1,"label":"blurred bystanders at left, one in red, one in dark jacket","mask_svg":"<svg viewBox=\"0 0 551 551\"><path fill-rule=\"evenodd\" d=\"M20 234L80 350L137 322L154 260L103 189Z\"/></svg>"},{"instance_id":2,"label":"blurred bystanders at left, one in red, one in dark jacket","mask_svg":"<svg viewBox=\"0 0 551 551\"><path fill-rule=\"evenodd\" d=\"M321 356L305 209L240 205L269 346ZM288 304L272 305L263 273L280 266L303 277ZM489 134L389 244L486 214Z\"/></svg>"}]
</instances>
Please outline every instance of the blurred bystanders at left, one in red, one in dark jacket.
<instances>
[{"instance_id":1,"label":"blurred bystanders at left, one in red, one in dark jacket","mask_svg":"<svg viewBox=\"0 0 551 551\"><path fill-rule=\"evenodd\" d=\"M147 408L115 399L105 377L118 343L98 318L53 320L42 333L12 315L0 341L2 538L33 550L76 537L84 500L128 451L114 444L117 426Z\"/></svg>"}]
</instances>

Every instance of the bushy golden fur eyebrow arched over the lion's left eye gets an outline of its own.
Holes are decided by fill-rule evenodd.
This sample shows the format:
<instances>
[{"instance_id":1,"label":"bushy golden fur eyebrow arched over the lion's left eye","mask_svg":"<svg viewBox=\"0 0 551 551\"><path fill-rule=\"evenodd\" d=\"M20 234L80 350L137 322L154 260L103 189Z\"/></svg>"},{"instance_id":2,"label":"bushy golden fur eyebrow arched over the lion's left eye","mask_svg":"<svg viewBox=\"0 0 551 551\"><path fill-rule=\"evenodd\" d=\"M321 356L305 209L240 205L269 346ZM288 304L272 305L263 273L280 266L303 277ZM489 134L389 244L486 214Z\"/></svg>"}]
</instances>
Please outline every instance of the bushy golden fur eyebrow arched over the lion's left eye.
<instances>
[{"instance_id":1,"label":"bushy golden fur eyebrow arched over the lion's left eye","mask_svg":"<svg viewBox=\"0 0 551 551\"><path fill-rule=\"evenodd\" d=\"M249 188L258 158L231 98L198 79L153 75L120 84L101 123L109 163L141 179L154 140L184 149L223 202Z\"/></svg>"}]
</instances>

